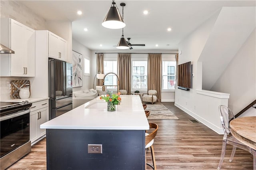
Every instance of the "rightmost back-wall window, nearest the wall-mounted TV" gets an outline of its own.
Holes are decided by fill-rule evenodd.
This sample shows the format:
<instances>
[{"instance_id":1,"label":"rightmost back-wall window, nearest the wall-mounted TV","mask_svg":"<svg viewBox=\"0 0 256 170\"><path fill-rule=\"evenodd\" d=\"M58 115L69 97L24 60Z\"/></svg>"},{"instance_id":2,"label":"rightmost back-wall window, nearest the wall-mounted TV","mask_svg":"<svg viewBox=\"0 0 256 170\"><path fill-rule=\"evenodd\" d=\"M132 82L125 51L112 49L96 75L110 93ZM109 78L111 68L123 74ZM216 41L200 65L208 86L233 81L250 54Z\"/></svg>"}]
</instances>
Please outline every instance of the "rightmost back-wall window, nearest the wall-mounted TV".
<instances>
[{"instance_id":1,"label":"rightmost back-wall window, nearest the wall-mounted TV","mask_svg":"<svg viewBox=\"0 0 256 170\"><path fill-rule=\"evenodd\" d=\"M176 61L162 62L162 89L174 89L176 83Z\"/></svg>"}]
</instances>

